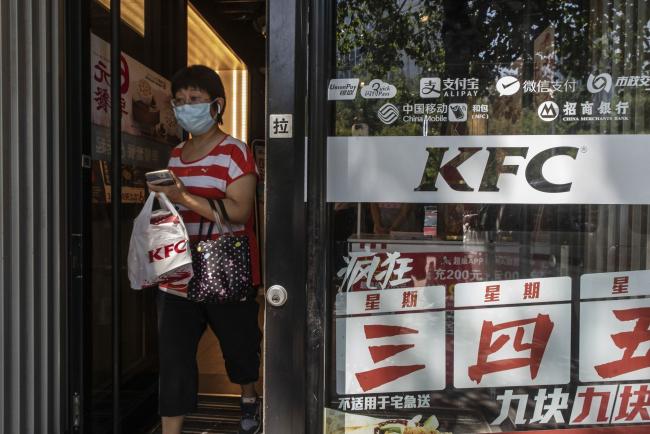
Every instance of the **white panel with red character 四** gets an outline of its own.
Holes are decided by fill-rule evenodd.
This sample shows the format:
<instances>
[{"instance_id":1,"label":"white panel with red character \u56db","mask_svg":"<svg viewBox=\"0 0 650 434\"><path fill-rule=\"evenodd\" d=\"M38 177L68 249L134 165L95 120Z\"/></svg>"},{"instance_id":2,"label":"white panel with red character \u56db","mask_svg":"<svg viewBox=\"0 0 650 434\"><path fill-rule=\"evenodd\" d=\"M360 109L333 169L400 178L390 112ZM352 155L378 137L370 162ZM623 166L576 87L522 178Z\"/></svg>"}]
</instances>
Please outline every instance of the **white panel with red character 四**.
<instances>
[{"instance_id":1,"label":"white panel with red character \u56db","mask_svg":"<svg viewBox=\"0 0 650 434\"><path fill-rule=\"evenodd\" d=\"M571 305L466 309L454 314L454 387L567 384Z\"/></svg>"}]
</instances>

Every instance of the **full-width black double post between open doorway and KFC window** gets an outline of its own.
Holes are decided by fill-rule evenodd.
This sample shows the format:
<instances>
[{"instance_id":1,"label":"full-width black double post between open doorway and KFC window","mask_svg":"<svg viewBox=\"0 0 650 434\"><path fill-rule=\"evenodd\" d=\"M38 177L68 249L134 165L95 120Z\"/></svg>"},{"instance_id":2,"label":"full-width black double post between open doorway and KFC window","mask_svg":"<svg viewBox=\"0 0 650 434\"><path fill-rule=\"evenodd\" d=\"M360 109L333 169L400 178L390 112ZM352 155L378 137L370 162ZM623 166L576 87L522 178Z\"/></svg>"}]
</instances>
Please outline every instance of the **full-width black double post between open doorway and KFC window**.
<instances>
[{"instance_id":1,"label":"full-width black double post between open doorway and KFC window","mask_svg":"<svg viewBox=\"0 0 650 434\"><path fill-rule=\"evenodd\" d=\"M266 151L265 282L280 284L289 294L284 306L266 309L268 434L323 430L330 272L327 81L333 11L330 0L267 3L267 115L293 115L293 137L269 138ZM267 116L267 134L271 127Z\"/></svg>"}]
</instances>

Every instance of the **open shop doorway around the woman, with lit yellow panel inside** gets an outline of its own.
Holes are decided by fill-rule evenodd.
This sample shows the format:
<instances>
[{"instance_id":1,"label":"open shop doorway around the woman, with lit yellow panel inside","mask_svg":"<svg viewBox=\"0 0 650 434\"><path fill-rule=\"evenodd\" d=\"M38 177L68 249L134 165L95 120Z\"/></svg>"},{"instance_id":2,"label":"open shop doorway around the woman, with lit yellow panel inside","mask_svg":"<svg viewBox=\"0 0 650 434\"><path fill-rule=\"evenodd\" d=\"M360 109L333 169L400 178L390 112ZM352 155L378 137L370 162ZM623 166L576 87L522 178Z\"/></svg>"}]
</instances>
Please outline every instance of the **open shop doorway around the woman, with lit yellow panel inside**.
<instances>
[{"instance_id":1,"label":"open shop doorway around the woman, with lit yellow panel inside","mask_svg":"<svg viewBox=\"0 0 650 434\"><path fill-rule=\"evenodd\" d=\"M114 2L113 2L114 4ZM260 169L256 231L264 251L265 3L264 1L121 1L122 93L121 201L113 214L111 176L111 2L68 2L72 56L69 114L79 122L70 148L70 196L80 207L69 221L72 273L71 432L159 432L155 292L133 291L127 279L132 222L147 191L144 173L166 167L171 148L183 139L169 105L169 79L188 64L216 70L228 107L223 130L251 147ZM84 89L79 92L79 89ZM81 94L81 95L79 95ZM118 225L120 289L113 285L113 236ZM112 235L113 234L113 235ZM264 258L262 257L262 266ZM264 326L260 287L260 328ZM116 303L117 301L117 303ZM116 344L117 342L117 344ZM197 352L200 404L188 430L236 432L238 386L228 381L218 341L207 329ZM262 368L257 391L264 391ZM194 432L194 431L191 431Z\"/></svg>"}]
</instances>

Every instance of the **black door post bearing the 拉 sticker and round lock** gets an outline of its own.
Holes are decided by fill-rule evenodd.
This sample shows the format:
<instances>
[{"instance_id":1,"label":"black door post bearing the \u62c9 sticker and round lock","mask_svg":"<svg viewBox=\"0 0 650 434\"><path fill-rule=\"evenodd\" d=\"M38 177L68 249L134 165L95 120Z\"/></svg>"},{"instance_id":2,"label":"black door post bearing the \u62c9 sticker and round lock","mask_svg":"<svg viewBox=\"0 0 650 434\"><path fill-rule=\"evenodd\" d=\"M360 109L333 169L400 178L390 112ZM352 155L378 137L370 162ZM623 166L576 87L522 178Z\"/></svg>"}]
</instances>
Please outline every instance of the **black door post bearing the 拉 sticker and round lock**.
<instances>
[{"instance_id":1,"label":"black door post bearing the \u62c9 sticker and round lock","mask_svg":"<svg viewBox=\"0 0 650 434\"><path fill-rule=\"evenodd\" d=\"M293 116L292 138L266 146L267 286L282 285L286 304L267 305L264 432L305 432L305 96L306 4L267 3L267 135L270 114Z\"/></svg>"}]
</instances>

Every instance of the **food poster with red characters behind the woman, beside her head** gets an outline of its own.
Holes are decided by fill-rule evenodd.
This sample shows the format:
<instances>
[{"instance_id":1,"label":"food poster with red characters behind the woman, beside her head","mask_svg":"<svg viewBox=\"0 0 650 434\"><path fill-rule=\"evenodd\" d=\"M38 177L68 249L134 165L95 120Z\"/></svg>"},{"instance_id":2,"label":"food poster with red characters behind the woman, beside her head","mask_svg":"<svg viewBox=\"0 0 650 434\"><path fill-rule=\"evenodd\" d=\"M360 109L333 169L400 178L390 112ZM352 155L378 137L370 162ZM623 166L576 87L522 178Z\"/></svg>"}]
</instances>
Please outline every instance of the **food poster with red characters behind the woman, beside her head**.
<instances>
[{"instance_id":1,"label":"food poster with red characters behind the woman, beside her head","mask_svg":"<svg viewBox=\"0 0 650 434\"><path fill-rule=\"evenodd\" d=\"M121 56L123 199L144 200L144 173L167 166L182 138L171 106L171 83L132 57ZM111 160L110 44L91 34L92 158ZM105 175L101 166L101 176ZM106 191L110 184L104 184ZM109 195L110 193L106 193ZM108 196L107 196L108 197Z\"/></svg>"}]
</instances>

